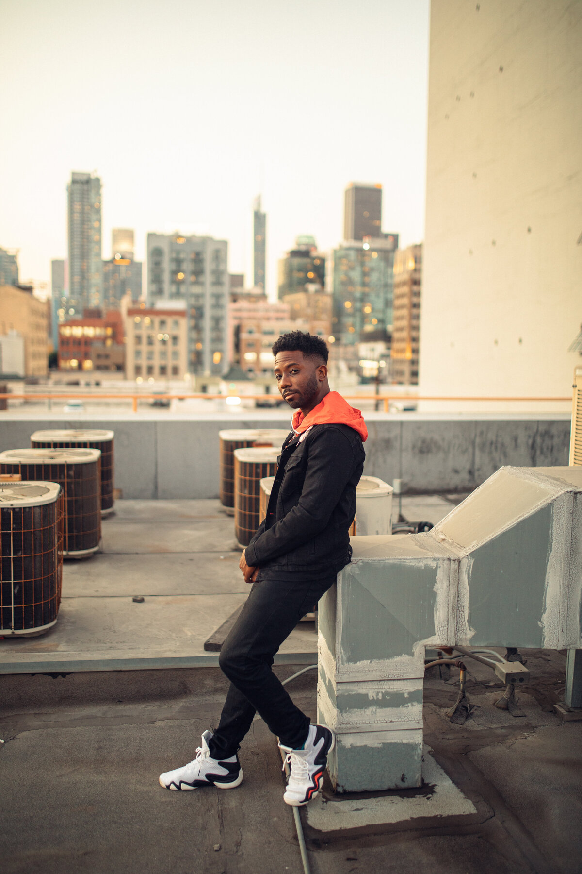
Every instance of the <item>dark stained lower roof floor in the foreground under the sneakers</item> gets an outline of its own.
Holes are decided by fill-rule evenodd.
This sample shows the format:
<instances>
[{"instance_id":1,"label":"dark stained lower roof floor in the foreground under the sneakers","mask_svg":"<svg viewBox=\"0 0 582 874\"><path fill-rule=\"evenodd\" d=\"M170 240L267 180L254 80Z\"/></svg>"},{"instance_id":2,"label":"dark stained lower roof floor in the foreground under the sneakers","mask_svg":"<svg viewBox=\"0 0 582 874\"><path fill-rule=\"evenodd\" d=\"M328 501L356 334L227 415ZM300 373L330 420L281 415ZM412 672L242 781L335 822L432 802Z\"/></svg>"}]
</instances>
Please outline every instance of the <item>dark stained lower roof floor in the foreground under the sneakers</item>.
<instances>
[{"instance_id":1,"label":"dark stained lower roof floor in the foreground under the sneakers","mask_svg":"<svg viewBox=\"0 0 582 874\"><path fill-rule=\"evenodd\" d=\"M431 809L432 779L339 801L326 781L325 801L313 803L345 807L335 829L314 827L317 807L300 812L313 874L578 874L582 725L562 725L551 712L565 656L524 656L532 675L519 695L525 718L491 706L503 687L478 662L469 662L468 680L478 706L462 726L444 716L455 669L449 682L438 668L425 679L425 733L461 807ZM313 671L288 687L310 715L315 680ZM224 689L217 669L0 676L2 871L300 874L276 741L262 721L243 742L236 790L170 793L158 784L216 725ZM407 815L423 807L428 815ZM390 814L377 815L382 808Z\"/></svg>"}]
</instances>

